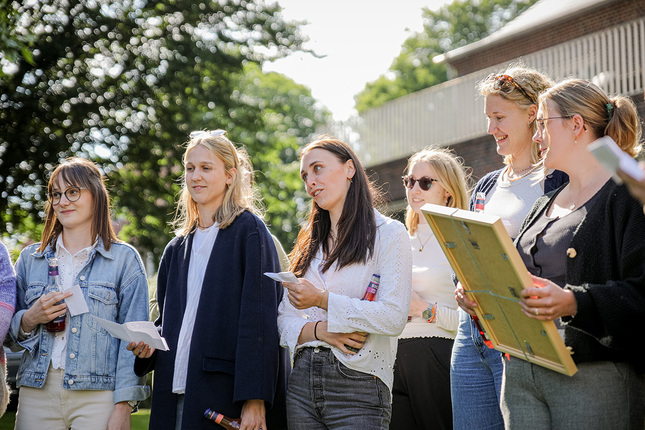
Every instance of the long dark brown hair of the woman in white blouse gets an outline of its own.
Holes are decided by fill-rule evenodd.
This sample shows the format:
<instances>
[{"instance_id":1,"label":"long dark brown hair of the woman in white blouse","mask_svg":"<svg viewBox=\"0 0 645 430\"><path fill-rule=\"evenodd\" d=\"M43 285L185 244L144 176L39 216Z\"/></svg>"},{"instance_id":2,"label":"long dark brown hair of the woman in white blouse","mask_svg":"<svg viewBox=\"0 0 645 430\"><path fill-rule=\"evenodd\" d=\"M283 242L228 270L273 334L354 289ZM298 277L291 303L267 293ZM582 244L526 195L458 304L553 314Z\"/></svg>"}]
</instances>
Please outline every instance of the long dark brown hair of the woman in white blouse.
<instances>
[{"instance_id":1,"label":"long dark brown hair of the woman in white blouse","mask_svg":"<svg viewBox=\"0 0 645 430\"><path fill-rule=\"evenodd\" d=\"M374 253L376 242L376 218L374 200L378 194L367 178L363 166L352 149L340 140L323 137L304 147L300 158L312 149L324 149L334 154L341 163L352 160L355 174L347 191L343 212L337 226L337 240L334 249L329 249L328 239L331 232L329 212L320 208L312 200L309 219L298 233L296 244L289 254L290 269L296 276L303 276L311 261L322 246L327 254L323 272L334 262L339 269L354 263L365 263Z\"/></svg>"}]
</instances>

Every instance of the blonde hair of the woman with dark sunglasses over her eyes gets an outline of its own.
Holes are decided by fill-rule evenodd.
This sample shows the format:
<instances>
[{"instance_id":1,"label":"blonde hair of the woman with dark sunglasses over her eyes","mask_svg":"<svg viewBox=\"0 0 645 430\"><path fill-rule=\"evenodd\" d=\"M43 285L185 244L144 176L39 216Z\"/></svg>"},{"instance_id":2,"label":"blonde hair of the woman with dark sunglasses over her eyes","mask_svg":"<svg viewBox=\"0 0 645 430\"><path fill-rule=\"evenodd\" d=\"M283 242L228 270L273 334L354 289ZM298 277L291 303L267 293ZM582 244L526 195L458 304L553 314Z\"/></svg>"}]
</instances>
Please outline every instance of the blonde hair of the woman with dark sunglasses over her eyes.
<instances>
[{"instance_id":1,"label":"blonde hair of the woman with dark sunglasses over her eyes","mask_svg":"<svg viewBox=\"0 0 645 430\"><path fill-rule=\"evenodd\" d=\"M450 194L446 206L457 209L468 209L468 178L470 173L464 167L464 161L448 148L429 146L408 159L405 174L409 174L417 163L428 163L437 175L442 187ZM408 205L405 214L405 226L410 234L417 231L419 214Z\"/></svg>"}]
</instances>

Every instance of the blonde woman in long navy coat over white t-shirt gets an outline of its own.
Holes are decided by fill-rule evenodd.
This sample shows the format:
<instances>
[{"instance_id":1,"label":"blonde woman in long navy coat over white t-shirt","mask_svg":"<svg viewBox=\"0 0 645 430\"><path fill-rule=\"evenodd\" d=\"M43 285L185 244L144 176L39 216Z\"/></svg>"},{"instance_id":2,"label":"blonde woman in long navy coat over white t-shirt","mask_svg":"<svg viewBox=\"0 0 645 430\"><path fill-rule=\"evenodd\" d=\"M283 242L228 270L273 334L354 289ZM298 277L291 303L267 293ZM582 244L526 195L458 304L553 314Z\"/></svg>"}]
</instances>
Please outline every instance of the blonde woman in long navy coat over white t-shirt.
<instances>
[{"instance_id":1,"label":"blonde woman in long navy coat over white t-shirt","mask_svg":"<svg viewBox=\"0 0 645 430\"><path fill-rule=\"evenodd\" d=\"M285 429L288 355L278 342L282 286L249 173L223 130L191 133L177 237L159 264L155 324L168 351L131 343L135 370L154 370L150 428L211 429L211 409L242 430Z\"/></svg>"}]
</instances>

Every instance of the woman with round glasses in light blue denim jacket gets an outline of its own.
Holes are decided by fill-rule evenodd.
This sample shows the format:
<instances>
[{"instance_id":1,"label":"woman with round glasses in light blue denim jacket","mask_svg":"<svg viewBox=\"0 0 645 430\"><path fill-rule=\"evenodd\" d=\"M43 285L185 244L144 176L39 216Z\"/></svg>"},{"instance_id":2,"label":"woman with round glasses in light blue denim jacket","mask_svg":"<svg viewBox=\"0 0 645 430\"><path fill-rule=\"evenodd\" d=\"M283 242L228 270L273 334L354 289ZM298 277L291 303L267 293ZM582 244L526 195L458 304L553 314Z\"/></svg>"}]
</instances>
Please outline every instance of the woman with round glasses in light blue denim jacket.
<instances>
[{"instance_id":1,"label":"woman with round glasses in light blue denim jacket","mask_svg":"<svg viewBox=\"0 0 645 430\"><path fill-rule=\"evenodd\" d=\"M72 158L47 185L42 242L16 262L16 314L10 335L27 350L17 375L16 429L129 428L136 402L148 387L134 374L126 344L94 317L119 324L148 319L148 284L137 251L119 241L99 169ZM62 292L46 292L57 260ZM69 314L62 302L78 287L88 312ZM66 315L62 331L46 323ZM60 327L59 327L60 328Z\"/></svg>"}]
</instances>

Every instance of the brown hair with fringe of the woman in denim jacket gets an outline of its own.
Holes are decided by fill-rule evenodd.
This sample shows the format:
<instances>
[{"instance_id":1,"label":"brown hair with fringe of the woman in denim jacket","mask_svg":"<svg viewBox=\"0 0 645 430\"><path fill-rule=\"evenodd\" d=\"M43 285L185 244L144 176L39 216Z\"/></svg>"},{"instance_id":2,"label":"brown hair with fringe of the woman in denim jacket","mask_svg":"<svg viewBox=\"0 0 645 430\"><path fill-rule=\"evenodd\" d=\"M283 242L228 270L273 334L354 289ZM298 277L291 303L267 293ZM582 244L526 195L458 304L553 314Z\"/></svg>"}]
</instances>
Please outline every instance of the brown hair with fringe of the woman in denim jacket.
<instances>
[{"instance_id":1,"label":"brown hair with fringe of the woman in denim jacket","mask_svg":"<svg viewBox=\"0 0 645 430\"><path fill-rule=\"evenodd\" d=\"M47 192L52 193L54 185L63 182L68 187L80 187L81 194L89 192L94 199L94 213L92 217L91 237L100 237L105 249L109 250L112 242L119 240L112 228L110 220L110 195L105 188L105 182L101 171L89 160L84 158L69 158L52 172L47 183ZM63 232L63 225L58 220L54 206L47 201L45 206L47 216L45 227L38 247L43 252L47 245L54 246L58 235Z\"/></svg>"}]
</instances>

